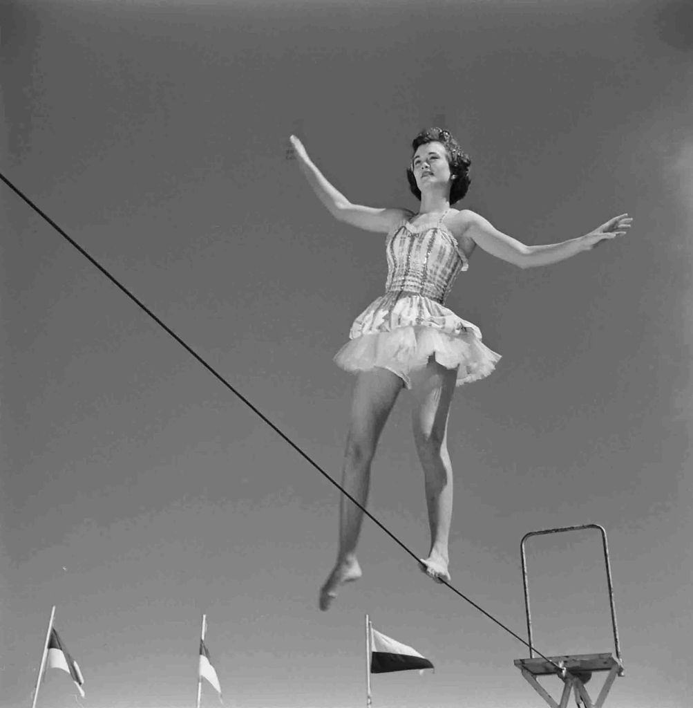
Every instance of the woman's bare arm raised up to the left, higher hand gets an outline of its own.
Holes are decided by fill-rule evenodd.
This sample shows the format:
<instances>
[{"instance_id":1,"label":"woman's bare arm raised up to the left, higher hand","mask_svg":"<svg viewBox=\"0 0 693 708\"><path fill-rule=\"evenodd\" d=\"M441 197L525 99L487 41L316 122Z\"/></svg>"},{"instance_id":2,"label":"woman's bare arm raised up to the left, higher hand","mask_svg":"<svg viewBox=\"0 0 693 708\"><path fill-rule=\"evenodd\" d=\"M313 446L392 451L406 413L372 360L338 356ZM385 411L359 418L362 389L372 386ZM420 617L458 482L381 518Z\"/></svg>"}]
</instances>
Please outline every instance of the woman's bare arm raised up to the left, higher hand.
<instances>
[{"instance_id":1,"label":"woman's bare arm raised up to the left, higher hand","mask_svg":"<svg viewBox=\"0 0 693 708\"><path fill-rule=\"evenodd\" d=\"M292 135L290 138L292 154L298 160L299 167L306 176L309 185L328 211L339 221L365 231L389 232L397 222L407 215L403 209L377 209L352 204L339 190L334 188L321 171L309 158L302 142Z\"/></svg>"}]
</instances>

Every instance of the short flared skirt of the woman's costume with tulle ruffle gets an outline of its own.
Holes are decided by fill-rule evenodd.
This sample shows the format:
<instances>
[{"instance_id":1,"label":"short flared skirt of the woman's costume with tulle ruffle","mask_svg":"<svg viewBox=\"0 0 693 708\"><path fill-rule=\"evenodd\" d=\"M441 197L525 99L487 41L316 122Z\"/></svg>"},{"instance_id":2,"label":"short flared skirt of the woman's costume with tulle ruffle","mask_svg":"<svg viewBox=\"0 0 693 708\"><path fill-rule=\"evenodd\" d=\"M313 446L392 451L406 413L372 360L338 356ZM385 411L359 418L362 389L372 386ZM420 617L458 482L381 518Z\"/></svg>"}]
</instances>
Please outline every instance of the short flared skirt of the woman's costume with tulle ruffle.
<instances>
[{"instance_id":1,"label":"short flared skirt of the woman's costume with tulle ruffle","mask_svg":"<svg viewBox=\"0 0 693 708\"><path fill-rule=\"evenodd\" d=\"M423 295L386 293L355 319L349 336L335 356L339 367L389 369L408 388L411 373L431 357L447 369L457 368L457 386L488 376L500 360L481 341L479 327Z\"/></svg>"}]
</instances>

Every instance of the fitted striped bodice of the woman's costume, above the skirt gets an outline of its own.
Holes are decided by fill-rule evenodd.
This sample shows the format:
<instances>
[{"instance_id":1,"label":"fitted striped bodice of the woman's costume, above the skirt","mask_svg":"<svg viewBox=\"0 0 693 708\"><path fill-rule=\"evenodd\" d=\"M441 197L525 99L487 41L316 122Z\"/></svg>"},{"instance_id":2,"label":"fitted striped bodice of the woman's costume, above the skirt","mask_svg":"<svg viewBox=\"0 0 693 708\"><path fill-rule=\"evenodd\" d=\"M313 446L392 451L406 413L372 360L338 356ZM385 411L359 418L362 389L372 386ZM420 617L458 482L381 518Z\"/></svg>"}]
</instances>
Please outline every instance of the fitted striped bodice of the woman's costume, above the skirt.
<instances>
[{"instance_id":1,"label":"fitted striped bodice of the woman's costume, above the skirt","mask_svg":"<svg viewBox=\"0 0 693 708\"><path fill-rule=\"evenodd\" d=\"M446 212L447 213L447 212ZM469 268L457 241L442 223L417 231L405 221L386 242L387 292L412 292L440 304L460 270Z\"/></svg>"}]
</instances>

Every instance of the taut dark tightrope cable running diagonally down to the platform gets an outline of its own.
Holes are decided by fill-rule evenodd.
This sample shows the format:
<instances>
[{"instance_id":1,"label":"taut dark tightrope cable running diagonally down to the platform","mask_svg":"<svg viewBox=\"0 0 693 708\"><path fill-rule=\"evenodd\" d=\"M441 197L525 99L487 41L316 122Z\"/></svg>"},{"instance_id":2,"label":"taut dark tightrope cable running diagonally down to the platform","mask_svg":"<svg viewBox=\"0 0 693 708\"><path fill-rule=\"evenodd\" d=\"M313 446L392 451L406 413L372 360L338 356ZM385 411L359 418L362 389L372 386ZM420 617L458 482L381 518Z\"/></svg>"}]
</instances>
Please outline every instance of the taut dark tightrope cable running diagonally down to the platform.
<instances>
[{"instance_id":1,"label":"taut dark tightrope cable running diagonally down to the platform","mask_svg":"<svg viewBox=\"0 0 693 708\"><path fill-rule=\"evenodd\" d=\"M336 486L336 488L341 493L343 493L343 495L346 498L348 498L358 508L360 508L360 510L362 510L362 512L368 518L370 518L370 520L372 520L372 522L375 523L375 525L377 525L377 527L379 527L382 531L384 531L394 542L396 542L396 544L398 544L414 560L416 560L416 562L419 565L421 564L421 561L420 561L419 557L416 555L416 553L414 553L411 549L409 549L409 547L407 547L403 542L401 542L401 540L398 537L396 537L394 535L394 533L392 533L387 527L385 527L382 523L380 523L379 520L377 520L377 518L375 518L374 515L372 515L372 513L370 513L370 511L368 511L364 506L362 506L360 503L358 503L355 500L355 498L353 498L353 496L351 496L350 493L348 493L348 491L346 491L337 481L332 479L332 477L327 472L325 472L325 470L322 469L322 467L320 467L320 465L317 462L314 462L314 460L311 457L309 457L307 452L304 452L298 445L296 445L296 443L293 440L291 440L291 438L289 438L287 435L285 435L285 433L282 433L282 430L277 428L277 426L275 426L275 424L272 421L270 421L270 419L267 418L267 416L265 416L259 409L257 409L256 406L254 406L251 403L251 401L248 401L248 399L246 399L246 396L244 396L243 394L241 394L241 392L239 392L237 389L235 389L227 381L227 379L225 379L221 374L219 374L219 372L217 372L217 370L215 370L199 354L197 354L197 352L195 352L195 350L193 350L193 348L188 346L188 344L185 343L185 341L183 341L183 339L181 337L179 337L168 325L166 325L163 321L161 321L161 319L159 319L159 317L157 317L154 314L154 312L151 312L151 310L149 309L149 307L147 307L147 305L145 305L141 300L137 299L137 297L132 295L132 292L130 292L130 290L127 290L127 287L125 287L125 285L121 285L120 282L118 280L116 280L113 277L113 275L111 275L108 272L108 270L106 270L103 267L103 265L98 263L98 261L96 261L95 258L93 258L89 253L87 253L87 251L85 251L76 241L74 241L74 239L71 239L71 237L68 236L63 231L63 229L61 229L58 226L58 224L56 224L48 215L46 215L44 212L42 212L42 210L40 210L38 206L36 206L28 197L26 197L20 190L18 190L18 188L16 188L15 185L13 185L1 172L0 172L0 179L11 190L13 190L13 192L16 193L16 195L18 195L18 197L23 199L38 215L40 215L43 219L45 219L71 246L74 246L74 248L77 249L77 251L79 251L82 254L82 256L84 256L92 265L96 266L96 268L98 268L98 270L101 270L101 273L103 273L103 275L105 275L106 278L108 278L108 280L110 280L110 282L113 282L113 285L115 285L120 290L122 290L122 292L124 292L125 295L127 295L127 297L129 297L132 300L132 302L134 302L135 304L137 304L137 306L139 308L144 310L144 312L146 312L151 317L151 319L153 319L156 322L156 324L158 324L162 329L164 329L164 331L166 331L166 333L168 333L171 337L173 337L173 339L175 339L178 342L178 344L180 344L190 355L192 355L198 362L200 362L200 364L202 364L202 366L205 367L205 369L207 369L207 371L209 371L214 377L219 379L219 381L222 382L222 384L224 384L224 386L227 387L227 389L229 389L229 391L231 391L231 393L238 396L239 399L241 399L241 401L243 401L244 404L246 404L246 406L248 406L248 408L251 409L251 411L253 411L253 413L256 413L257 416L262 418L262 420L265 421L265 423L267 423L268 426L270 426L270 428L272 428L275 431L275 433L277 433L277 435L279 435L280 438L282 438L282 440L285 440L285 442L287 442L291 447L293 447L294 450L296 450L296 452L298 452L299 455L301 455L301 457L303 457L307 462L309 462L309 464L311 464L313 467L315 467L315 469L317 469L317 471L323 477L325 477L325 479L327 479L329 482L331 482L331 484L333 484L333 486ZM464 595L464 593L461 593L459 590L457 590L457 588L450 585L447 581L442 580L440 578L438 578L438 581L440 583L442 583L442 585L447 586L447 588L452 590L453 593L455 593L456 595L459 595L460 598L462 598L463 600L466 600L466 602L469 603L472 607L475 607L476 610L479 610L479 612L481 612L482 615L485 615L486 617L488 617L488 619L491 619L493 622L496 622L496 624L498 624L498 627L505 629L505 632L508 632L508 634L512 634L512 636L514 636L515 639L517 639L518 641L521 641L522 644L525 644L525 646L527 646L530 650L533 649L534 651L536 651L539 654L539 656L546 659L546 661L548 661L552 666L555 666L556 669L559 670L559 673L563 673L563 668L561 668L561 666L559 666L554 661L551 661L551 659L548 656L544 656L544 654L542 654L540 651L537 651L536 647L530 646L529 643L527 641L525 641L524 639L522 639L521 636L515 634L515 632L513 632L512 629L510 629L509 627L506 627L505 624L503 624L503 622L500 622L500 620L496 619L496 617L493 617L493 615L490 615L488 612L486 612L486 610L484 610L483 607L480 607L479 605L477 605L474 602L474 600L470 600L466 595Z\"/></svg>"}]
</instances>

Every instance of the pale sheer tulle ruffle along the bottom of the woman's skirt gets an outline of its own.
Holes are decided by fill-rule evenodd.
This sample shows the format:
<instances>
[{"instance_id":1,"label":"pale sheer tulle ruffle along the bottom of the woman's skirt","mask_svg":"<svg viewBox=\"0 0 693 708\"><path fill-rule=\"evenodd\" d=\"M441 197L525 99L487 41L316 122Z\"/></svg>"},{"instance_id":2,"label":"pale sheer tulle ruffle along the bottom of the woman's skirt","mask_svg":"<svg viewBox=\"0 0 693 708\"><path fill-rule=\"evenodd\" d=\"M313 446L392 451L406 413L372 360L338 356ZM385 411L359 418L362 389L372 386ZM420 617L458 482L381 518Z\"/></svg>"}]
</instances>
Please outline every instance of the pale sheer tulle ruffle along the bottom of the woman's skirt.
<instances>
[{"instance_id":1,"label":"pale sheer tulle ruffle along the bottom of the woman's skirt","mask_svg":"<svg viewBox=\"0 0 693 708\"><path fill-rule=\"evenodd\" d=\"M435 327L416 325L362 334L346 343L334 360L349 372L374 367L389 369L408 384L408 375L423 369L433 356L447 369L457 368L456 385L460 386L488 376L500 360L500 354L489 349L476 331L475 327L449 334Z\"/></svg>"}]
</instances>

